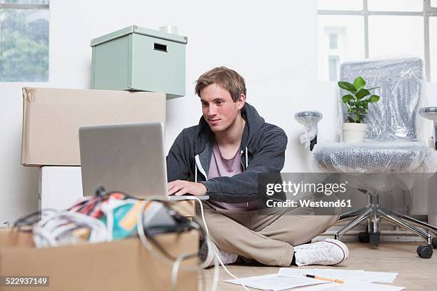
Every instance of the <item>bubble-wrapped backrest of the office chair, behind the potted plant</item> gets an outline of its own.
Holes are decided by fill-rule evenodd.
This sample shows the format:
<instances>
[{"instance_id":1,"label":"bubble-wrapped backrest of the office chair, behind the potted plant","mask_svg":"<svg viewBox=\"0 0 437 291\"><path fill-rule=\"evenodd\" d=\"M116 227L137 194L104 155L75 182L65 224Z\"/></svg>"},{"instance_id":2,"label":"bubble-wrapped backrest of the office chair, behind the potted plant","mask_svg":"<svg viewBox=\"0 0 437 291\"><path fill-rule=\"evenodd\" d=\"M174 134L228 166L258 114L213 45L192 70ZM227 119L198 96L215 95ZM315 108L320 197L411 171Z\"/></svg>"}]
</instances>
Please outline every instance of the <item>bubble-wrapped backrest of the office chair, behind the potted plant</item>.
<instances>
[{"instance_id":1,"label":"bubble-wrapped backrest of the office chair, behind the potted plant","mask_svg":"<svg viewBox=\"0 0 437 291\"><path fill-rule=\"evenodd\" d=\"M365 88L381 96L376 103L369 103L363 123L368 124L366 139L374 141L417 141L417 106L422 93L423 62L421 58L388 58L343 63L341 81L353 83L362 76ZM340 98L347 91L341 90ZM339 103L343 121L346 107Z\"/></svg>"}]
</instances>

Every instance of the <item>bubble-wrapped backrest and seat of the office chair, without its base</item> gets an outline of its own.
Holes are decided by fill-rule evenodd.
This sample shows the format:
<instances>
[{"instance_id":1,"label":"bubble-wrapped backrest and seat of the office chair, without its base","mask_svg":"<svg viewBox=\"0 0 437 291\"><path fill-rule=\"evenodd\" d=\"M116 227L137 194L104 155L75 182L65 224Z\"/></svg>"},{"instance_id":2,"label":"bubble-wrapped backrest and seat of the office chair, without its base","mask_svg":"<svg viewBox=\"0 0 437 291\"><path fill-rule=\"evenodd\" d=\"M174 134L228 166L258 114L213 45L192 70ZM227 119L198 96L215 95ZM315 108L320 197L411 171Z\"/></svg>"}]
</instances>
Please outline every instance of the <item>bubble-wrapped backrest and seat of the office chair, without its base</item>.
<instances>
[{"instance_id":1,"label":"bubble-wrapped backrest and seat of the office chair, without its base","mask_svg":"<svg viewBox=\"0 0 437 291\"><path fill-rule=\"evenodd\" d=\"M366 189L388 190L396 185L411 189L418 173L437 170L436 151L418 142L416 131L423 63L420 58L393 58L342 64L341 80L353 83L357 76L364 78L366 88L380 87L372 93L381 99L369 104L364 121L366 143L318 143L313 148L313 168L356 173L356 185ZM345 120L346 108L339 104Z\"/></svg>"}]
</instances>

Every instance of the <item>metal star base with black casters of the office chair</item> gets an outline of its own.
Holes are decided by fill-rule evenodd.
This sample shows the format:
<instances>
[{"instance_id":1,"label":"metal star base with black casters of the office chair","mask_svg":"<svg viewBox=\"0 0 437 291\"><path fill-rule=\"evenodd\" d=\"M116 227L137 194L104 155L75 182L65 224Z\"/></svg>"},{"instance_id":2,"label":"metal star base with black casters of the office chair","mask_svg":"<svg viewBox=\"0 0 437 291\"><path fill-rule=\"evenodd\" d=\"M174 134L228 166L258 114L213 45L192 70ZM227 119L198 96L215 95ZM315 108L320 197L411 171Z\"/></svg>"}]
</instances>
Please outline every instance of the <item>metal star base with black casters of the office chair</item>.
<instances>
[{"instance_id":1,"label":"metal star base with black casters of the office chair","mask_svg":"<svg viewBox=\"0 0 437 291\"><path fill-rule=\"evenodd\" d=\"M361 190L361 192L365 192L365 190ZM341 238L344 233L348 232L352 228L355 228L356 225L361 223L363 220L368 220L366 232L360 233L358 235L358 240L361 242L369 242L370 245L373 246L378 246L380 243L380 220L383 218L395 225L406 228L412 233L416 233L416 235L419 235L421 238L426 240L426 245L419 245L417 248L417 253L420 257L428 258L433 255L433 247L437 248L437 237L432 238L431 235L413 225L418 225L434 234L437 234L436 226L423 223L422 221L411 218L408 215L382 208L379 205L378 193L371 194L367 191L365 193L368 194L368 205L366 207L340 215L339 220L346 220L348 218L354 219L341 228L341 230L338 230L338 232L335 234L336 240Z\"/></svg>"}]
</instances>

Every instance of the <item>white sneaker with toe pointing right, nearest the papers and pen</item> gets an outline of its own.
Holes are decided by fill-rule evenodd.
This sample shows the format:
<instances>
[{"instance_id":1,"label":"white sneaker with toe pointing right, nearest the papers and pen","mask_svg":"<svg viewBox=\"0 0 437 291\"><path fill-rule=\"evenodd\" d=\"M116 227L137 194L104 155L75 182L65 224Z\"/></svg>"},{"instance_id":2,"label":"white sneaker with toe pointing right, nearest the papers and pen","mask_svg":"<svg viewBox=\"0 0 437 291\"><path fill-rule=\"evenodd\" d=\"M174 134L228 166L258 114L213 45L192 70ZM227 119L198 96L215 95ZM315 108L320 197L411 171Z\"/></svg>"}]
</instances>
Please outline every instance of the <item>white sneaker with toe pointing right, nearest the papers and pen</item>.
<instances>
[{"instance_id":1,"label":"white sneaker with toe pointing right, nearest the papers and pen","mask_svg":"<svg viewBox=\"0 0 437 291\"><path fill-rule=\"evenodd\" d=\"M327 238L321 242L294 247L296 265L336 265L346 261L349 249L340 240Z\"/></svg>"}]
</instances>

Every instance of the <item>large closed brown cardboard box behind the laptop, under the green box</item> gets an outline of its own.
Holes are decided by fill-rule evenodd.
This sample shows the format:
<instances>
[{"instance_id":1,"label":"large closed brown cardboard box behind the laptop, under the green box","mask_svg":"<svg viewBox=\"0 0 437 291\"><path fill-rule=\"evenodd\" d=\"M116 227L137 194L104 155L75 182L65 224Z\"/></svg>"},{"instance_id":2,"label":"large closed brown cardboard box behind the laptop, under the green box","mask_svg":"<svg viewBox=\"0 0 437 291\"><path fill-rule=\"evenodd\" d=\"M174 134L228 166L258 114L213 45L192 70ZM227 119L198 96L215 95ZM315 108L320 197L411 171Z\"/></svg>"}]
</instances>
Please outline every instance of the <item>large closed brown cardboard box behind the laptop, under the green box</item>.
<instances>
[{"instance_id":1,"label":"large closed brown cardboard box behind the laptop, under the green box","mask_svg":"<svg viewBox=\"0 0 437 291\"><path fill-rule=\"evenodd\" d=\"M81 126L165 120L165 93L23 88L21 164L80 165Z\"/></svg>"}]
</instances>

